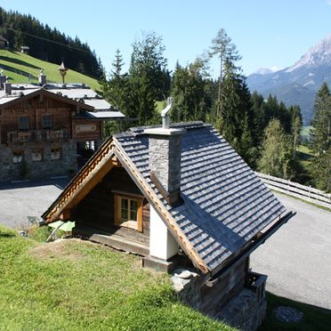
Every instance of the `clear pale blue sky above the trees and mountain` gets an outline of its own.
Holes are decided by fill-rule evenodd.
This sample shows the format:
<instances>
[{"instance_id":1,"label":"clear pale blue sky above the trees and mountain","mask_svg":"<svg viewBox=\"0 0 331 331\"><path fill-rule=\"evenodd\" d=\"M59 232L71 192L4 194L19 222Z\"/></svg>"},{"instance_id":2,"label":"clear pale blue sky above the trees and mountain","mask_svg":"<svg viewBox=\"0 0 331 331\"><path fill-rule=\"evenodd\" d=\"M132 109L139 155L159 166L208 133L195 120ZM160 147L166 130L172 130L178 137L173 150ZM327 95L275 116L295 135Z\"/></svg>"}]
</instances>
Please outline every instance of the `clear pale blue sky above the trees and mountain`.
<instances>
[{"instance_id":1,"label":"clear pale blue sky above the trees and mountain","mask_svg":"<svg viewBox=\"0 0 331 331\"><path fill-rule=\"evenodd\" d=\"M117 48L128 65L141 31L163 37L169 69L174 69L176 61L194 61L225 28L246 75L259 68L286 68L331 33L331 0L1 0L0 6L78 36L106 69ZM216 61L211 69L216 76Z\"/></svg>"}]
</instances>

